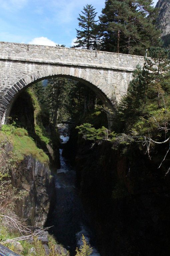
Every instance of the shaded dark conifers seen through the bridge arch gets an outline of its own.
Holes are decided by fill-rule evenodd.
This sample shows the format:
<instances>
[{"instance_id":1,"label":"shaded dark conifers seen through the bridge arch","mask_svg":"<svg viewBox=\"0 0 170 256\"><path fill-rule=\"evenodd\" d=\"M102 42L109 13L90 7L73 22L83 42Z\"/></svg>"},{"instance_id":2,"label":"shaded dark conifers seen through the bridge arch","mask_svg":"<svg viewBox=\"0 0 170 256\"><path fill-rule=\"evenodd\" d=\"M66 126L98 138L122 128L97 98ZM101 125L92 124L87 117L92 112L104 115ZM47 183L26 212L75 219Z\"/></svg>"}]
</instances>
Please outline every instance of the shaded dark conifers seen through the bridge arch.
<instances>
[{"instance_id":1,"label":"shaded dark conifers seen through the bridge arch","mask_svg":"<svg viewBox=\"0 0 170 256\"><path fill-rule=\"evenodd\" d=\"M54 127L62 121L81 122L97 104L102 104L90 88L72 79L55 77L48 79L46 87L36 83L33 88L42 109L50 113Z\"/></svg>"}]
</instances>

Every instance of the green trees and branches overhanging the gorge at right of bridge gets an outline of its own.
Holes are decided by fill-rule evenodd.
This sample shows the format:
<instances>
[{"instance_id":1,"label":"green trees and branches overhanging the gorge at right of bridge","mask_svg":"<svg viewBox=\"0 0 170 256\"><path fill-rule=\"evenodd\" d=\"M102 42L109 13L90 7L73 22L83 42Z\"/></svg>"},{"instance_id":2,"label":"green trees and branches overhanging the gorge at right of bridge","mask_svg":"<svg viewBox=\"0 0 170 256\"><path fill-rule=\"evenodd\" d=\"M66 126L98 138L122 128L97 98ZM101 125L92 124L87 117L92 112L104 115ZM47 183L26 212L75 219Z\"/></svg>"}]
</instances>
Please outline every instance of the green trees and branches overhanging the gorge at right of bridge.
<instances>
[{"instance_id":1,"label":"green trees and branches overhanging the gorge at right of bridge","mask_svg":"<svg viewBox=\"0 0 170 256\"><path fill-rule=\"evenodd\" d=\"M159 47L151 48L150 54L152 59L146 58L143 68L136 67L127 95L117 106L112 131L95 129L89 123L77 128L83 138L93 143L110 141L113 148L121 147L122 153L129 154L130 147L140 149L141 154L147 152L149 159L153 157L166 173L170 141L169 52Z\"/></svg>"}]
</instances>

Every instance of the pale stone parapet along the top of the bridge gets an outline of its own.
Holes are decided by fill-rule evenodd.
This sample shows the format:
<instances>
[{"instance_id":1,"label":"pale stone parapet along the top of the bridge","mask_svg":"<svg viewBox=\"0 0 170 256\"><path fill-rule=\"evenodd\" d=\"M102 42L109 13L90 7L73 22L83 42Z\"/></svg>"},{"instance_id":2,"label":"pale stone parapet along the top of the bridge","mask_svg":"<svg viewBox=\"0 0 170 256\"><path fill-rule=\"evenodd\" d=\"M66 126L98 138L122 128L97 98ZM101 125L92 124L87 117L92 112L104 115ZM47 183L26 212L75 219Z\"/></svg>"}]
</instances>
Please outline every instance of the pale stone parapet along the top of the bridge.
<instances>
[{"instance_id":1,"label":"pale stone parapet along the top of the bridge","mask_svg":"<svg viewBox=\"0 0 170 256\"><path fill-rule=\"evenodd\" d=\"M101 51L0 42L0 59L132 72L144 57Z\"/></svg>"}]
</instances>

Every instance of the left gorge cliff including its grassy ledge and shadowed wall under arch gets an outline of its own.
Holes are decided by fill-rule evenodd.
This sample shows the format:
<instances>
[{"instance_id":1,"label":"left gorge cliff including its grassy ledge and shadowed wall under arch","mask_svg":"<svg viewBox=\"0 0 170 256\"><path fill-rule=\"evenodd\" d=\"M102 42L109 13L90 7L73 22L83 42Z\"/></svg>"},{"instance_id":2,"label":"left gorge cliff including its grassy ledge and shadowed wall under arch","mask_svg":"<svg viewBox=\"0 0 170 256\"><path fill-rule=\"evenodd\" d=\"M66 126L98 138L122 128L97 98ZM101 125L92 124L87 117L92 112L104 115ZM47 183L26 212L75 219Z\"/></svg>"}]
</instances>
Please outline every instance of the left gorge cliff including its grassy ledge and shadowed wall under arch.
<instances>
[{"instance_id":1,"label":"left gorge cliff including its grassy ledge and shadowed wall under arch","mask_svg":"<svg viewBox=\"0 0 170 256\"><path fill-rule=\"evenodd\" d=\"M11 124L0 131L0 171L10 163L5 168L12 185L25 192L24 198L16 202L16 214L28 225L42 228L53 207L51 198L55 200L50 168L60 165L59 136L52 133L48 111L42 111L31 88L18 94L10 117Z\"/></svg>"}]
</instances>

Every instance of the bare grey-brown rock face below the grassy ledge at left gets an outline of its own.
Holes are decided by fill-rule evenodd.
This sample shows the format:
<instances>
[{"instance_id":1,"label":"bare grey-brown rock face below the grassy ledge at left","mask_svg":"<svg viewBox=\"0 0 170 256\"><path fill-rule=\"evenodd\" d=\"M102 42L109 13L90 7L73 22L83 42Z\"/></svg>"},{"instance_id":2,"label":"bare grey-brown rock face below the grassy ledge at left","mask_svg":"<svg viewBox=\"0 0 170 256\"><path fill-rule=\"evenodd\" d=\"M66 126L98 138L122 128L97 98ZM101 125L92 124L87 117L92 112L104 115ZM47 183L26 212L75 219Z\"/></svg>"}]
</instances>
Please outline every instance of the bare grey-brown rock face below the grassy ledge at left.
<instances>
[{"instance_id":1,"label":"bare grey-brown rock face below the grassy ledge at left","mask_svg":"<svg viewBox=\"0 0 170 256\"><path fill-rule=\"evenodd\" d=\"M12 149L12 144L7 142L0 155L0 167ZM31 155L25 156L13 166L11 181L14 187L26 192L24 198L16 202L16 214L30 226L42 228L47 219L52 195L55 198L48 163L41 163Z\"/></svg>"}]
</instances>

